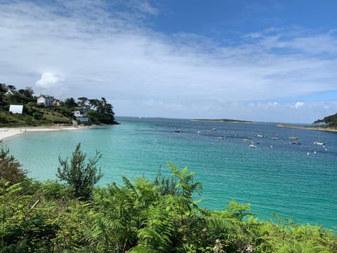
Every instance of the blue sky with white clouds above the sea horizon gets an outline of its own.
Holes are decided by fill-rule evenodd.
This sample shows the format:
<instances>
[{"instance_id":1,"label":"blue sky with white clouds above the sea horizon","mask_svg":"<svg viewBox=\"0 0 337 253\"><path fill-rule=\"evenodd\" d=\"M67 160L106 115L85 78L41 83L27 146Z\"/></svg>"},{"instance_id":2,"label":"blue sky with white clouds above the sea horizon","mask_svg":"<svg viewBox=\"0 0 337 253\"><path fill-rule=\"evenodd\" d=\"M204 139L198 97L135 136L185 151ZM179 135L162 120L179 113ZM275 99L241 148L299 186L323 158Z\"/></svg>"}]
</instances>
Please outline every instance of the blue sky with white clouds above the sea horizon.
<instances>
[{"instance_id":1,"label":"blue sky with white clouds above the sea horizon","mask_svg":"<svg viewBox=\"0 0 337 253\"><path fill-rule=\"evenodd\" d=\"M116 116L312 123L337 112L334 0L0 0L0 83Z\"/></svg>"}]
</instances>

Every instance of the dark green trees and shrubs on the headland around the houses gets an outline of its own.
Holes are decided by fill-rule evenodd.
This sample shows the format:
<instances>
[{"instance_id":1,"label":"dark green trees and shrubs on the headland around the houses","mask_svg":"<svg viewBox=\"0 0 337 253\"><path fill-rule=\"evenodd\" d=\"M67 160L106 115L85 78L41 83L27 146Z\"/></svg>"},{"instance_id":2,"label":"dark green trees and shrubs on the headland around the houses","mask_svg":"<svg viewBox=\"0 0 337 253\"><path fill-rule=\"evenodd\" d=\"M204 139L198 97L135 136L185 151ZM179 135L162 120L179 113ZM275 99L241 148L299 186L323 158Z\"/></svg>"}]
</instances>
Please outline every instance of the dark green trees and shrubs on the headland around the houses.
<instances>
[{"instance_id":1,"label":"dark green trees and shrubs on the headland around the houses","mask_svg":"<svg viewBox=\"0 0 337 253\"><path fill-rule=\"evenodd\" d=\"M41 126L50 124L72 124L74 111L82 110L91 124L117 124L114 121L113 107L105 98L88 99L81 97L78 101L67 98L65 103L48 96L51 106L37 104L31 87L17 91L15 86L0 84L0 127L1 126ZM54 103L55 102L55 103ZM10 105L23 105L22 114L9 111ZM86 122L87 123L87 122Z\"/></svg>"}]
</instances>

